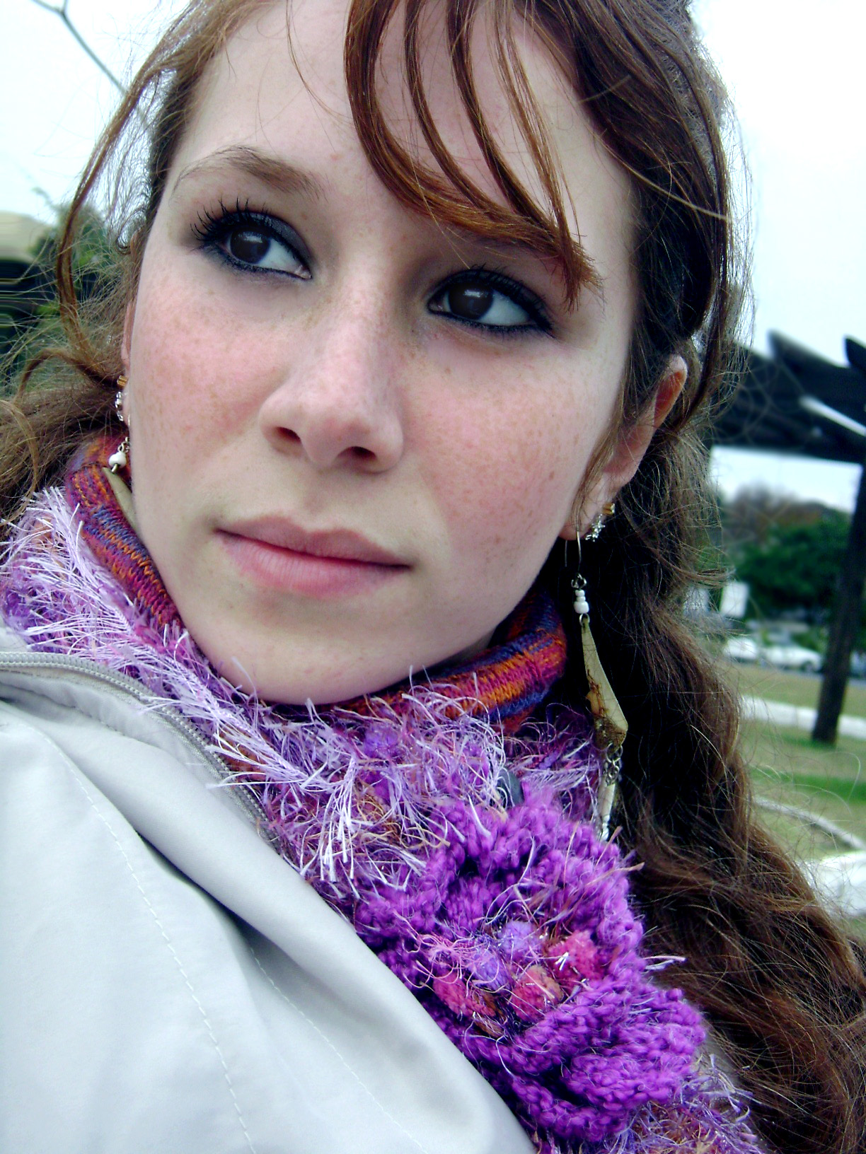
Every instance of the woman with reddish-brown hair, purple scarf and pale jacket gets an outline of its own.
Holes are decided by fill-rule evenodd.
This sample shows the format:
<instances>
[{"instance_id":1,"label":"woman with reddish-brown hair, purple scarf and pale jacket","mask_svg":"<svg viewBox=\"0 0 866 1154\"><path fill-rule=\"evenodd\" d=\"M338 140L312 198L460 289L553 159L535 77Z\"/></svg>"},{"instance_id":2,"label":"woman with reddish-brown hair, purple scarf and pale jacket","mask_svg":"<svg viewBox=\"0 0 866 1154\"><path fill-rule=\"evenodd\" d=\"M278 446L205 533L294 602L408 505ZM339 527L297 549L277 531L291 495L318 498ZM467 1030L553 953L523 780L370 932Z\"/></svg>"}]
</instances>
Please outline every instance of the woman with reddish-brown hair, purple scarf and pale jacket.
<instances>
[{"instance_id":1,"label":"woman with reddish-brown hair, purple scarf and pale jacket","mask_svg":"<svg viewBox=\"0 0 866 1154\"><path fill-rule=\"evenodd\" d=\"M663 0L145 62L3 429L5 1148L860 1148L858 958L678 614L719 104Z\"/></svg>"}]
</instances>

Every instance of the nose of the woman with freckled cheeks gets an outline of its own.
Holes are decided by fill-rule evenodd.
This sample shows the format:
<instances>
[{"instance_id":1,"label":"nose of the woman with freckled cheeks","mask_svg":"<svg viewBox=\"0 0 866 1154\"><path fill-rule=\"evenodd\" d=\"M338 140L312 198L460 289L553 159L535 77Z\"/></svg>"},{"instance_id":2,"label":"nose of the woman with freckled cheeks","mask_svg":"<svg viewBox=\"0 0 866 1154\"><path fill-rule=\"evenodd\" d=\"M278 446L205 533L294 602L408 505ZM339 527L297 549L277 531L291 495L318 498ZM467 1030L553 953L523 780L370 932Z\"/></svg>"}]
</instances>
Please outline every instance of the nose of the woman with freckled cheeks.
<instances>
[{"instance_id":1,"label":"nose of the woman with freckled cheeks","mask_svg":"<svg viewBox=\"0 0 866 1154\"><path fill-rule=\"evenodd\" d=\"M316 469L385 472L403 455L397 337L368 293L337 293L319 306L319 316L293 335L260 427L275 448Z\"/></svg>"}]
</instances>

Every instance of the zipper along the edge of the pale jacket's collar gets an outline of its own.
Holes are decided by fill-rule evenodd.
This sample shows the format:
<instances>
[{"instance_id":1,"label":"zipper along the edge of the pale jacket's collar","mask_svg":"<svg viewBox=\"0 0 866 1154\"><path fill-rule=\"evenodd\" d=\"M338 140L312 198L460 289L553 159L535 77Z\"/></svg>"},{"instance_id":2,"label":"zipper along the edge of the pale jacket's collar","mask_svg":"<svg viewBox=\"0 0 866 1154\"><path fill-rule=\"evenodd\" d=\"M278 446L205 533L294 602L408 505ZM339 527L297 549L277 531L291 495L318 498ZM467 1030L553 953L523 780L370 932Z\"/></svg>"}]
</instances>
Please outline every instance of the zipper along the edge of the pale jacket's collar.
<instances>
[{"instance_id":1,"label":"zipper along the edge of the pale jacket's collar","mask_svg":"<svg viewBox=\"0 0 866 1154\"><path fill-rule=\"evenodd\" d=\"M141 705L152 705L154 695L149 694L142 685L132 677L114 673L103 666L88 661L84 658L60 657L57 653L30 653L8 650L0 657L0 673L52 673L66 676L79 677L82 681L97 682L106 689L119 694L122 697L132 697ZM170 729L172 729L181 741L188 745L194 754L204 763L204 766L221 785L231 778L231 770L216 754L211 752L204 743L199 730L177 710L165 703L160 704L155 715ZM245 816L253 822L259 832L267 839L267 816L262 808L255 789L251 785L240 782L231 786L231 795L244 810Z\"/></svg>"}]
</instances>

